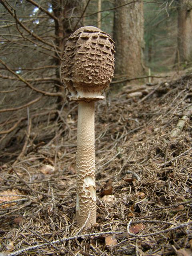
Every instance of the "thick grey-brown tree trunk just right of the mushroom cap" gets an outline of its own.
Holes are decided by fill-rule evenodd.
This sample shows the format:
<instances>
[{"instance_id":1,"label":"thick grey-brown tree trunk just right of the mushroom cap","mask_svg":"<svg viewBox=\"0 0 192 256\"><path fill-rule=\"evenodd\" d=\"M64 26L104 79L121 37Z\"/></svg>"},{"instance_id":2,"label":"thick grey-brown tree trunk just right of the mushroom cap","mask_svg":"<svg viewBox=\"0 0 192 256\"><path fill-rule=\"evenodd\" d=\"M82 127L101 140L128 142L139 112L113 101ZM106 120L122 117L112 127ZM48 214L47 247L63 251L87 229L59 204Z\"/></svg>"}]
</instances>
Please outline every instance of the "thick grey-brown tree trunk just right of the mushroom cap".
<instances>
[{"instance_id":1,"label":"thick grey-brown tree trunk just right of the mushroom cap","mask_svg":"<svg viewBox=\"0 0 192 256\"><path fill-rule=\"evenodd\" d=\"M131 2L129 0L129 2ZM115 7L128 3L115 0ZM144 72L144 18L143 3L135 2L115 9L114 40L116 43L115 75L133 78Z\"/></svg>"}]
</instances>

